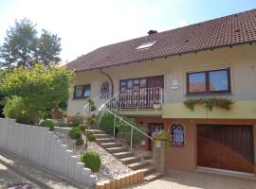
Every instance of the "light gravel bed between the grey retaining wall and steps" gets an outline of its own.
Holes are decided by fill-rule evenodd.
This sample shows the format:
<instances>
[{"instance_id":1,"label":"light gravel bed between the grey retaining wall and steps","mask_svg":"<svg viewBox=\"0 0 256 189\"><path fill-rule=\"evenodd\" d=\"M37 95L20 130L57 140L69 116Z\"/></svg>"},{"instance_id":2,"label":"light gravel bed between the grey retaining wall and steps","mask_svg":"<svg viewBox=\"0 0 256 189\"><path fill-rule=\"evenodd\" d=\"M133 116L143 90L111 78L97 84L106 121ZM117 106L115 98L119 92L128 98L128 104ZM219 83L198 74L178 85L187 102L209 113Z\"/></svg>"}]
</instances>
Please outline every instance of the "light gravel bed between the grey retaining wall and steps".
<instances>
[{"instance_id":1,"label":"light gravel bed between the grey retaining wall and steps","mask_svg":"<svg viewBox=\"0 0 256 189\"><path fill-rule=\"evenodd\" d=\"M54 130L54 133L63 141L64 145L67 145L70 150L74 151L80 157L82 151L84 151L84 146L76 146L76 141L67 136L68 131L69 129L58 128ZM88 142L88 150L97 151L101 156L101 169L99 172L93 173L97 181L111 180L115 177L133 172L95 142Z\"/></svg>"}]
</instances>

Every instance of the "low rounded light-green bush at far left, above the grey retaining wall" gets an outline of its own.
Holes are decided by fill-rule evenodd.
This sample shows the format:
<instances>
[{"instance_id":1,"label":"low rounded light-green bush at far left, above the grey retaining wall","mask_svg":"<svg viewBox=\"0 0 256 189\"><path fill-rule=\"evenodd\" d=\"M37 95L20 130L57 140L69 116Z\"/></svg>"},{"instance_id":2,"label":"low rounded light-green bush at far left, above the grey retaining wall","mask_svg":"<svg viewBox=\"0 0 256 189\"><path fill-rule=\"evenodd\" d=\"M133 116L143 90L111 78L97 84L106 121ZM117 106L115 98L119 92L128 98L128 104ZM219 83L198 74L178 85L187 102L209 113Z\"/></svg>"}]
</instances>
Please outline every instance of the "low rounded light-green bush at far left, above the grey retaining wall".
<instances>
[{"instance_id":1,"label":"low rounded light-green bush at far left, above the grey retaining wall","mask_svg":"<svg viewBox=\"0 0 256 189\"><path fill-rule=\"evenodd\" d=\"M5 117L16 119L17 123L33 125L38 116L36 112L27 109L24 99L18 96L9 98L4 108Z\"/></svg>"}]
</instances>

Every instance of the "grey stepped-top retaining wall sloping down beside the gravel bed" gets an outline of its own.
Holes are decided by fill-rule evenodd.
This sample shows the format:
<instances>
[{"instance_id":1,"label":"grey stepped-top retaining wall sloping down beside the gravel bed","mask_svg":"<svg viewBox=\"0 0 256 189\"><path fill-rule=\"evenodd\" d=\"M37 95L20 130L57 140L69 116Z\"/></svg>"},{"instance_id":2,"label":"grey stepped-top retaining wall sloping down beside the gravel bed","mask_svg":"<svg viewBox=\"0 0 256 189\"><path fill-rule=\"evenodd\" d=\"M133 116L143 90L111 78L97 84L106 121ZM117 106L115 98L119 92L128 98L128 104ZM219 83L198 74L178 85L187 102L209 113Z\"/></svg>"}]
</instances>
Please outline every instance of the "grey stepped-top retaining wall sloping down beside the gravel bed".
<instances>
[{"instance_id":1,"label":"grey stepped-top retaining wall sloping down beside the gravel bed","mask_svg":"<svg viewBox=\"0 0 256 189\"><path fill-rule=\"evenodd\" d=\"M91 170L73 151L46 128L17 124L15 120L0 119L0 147L35 165L50 170L53 174L93 187L96 183Z\"/></svg>"}]
</instances>

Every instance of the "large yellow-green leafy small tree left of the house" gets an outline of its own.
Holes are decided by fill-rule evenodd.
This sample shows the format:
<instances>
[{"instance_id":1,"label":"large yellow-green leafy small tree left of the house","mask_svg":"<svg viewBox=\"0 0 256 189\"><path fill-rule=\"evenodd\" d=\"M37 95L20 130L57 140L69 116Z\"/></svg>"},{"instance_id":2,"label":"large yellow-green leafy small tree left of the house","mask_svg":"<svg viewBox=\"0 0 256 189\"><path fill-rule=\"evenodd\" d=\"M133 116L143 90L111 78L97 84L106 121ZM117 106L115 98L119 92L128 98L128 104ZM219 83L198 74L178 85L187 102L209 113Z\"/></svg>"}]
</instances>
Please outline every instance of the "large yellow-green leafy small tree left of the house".
<instances>
[{"instance_id":1,"label":"large yellow-green leafy small tree left of the house","mask_svg":"<svg viewBox=\"0 0 256 189\"><path fill-rule=\"evenodd\" d=\"M58 107L68 98L72 78L73 74L62 67L20 67L6 73L0 88L9 96L22 98L25 112L33 112L33 124L37 124L48 110Z\"/></svg>"}]
</instances>

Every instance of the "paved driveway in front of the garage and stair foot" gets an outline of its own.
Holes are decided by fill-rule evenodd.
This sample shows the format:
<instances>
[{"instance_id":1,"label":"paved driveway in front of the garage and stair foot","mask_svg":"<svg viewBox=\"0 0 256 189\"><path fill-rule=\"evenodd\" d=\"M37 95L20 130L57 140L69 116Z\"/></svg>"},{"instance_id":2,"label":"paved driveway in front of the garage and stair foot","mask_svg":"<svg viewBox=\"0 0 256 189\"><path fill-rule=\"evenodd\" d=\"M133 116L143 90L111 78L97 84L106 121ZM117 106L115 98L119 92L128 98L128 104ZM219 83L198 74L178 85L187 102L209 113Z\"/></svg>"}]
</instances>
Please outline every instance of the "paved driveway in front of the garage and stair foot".
<instances>
[{"instance_id":1,"label":"paved driveway in front of the garage and stair foot","mask_svg":"<svg viewBox=\"0 0 256 189\"><path fill-rule=\"evenodd\" d=\"M173 171L169 177L141 183L136 189L256 189L256 179Z\"/></svg>"}]
</instances>

